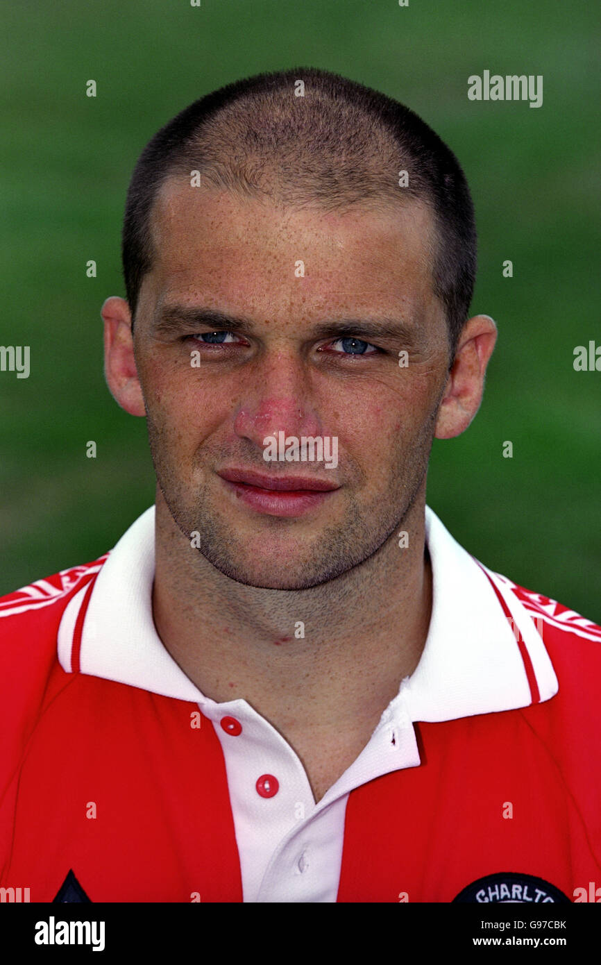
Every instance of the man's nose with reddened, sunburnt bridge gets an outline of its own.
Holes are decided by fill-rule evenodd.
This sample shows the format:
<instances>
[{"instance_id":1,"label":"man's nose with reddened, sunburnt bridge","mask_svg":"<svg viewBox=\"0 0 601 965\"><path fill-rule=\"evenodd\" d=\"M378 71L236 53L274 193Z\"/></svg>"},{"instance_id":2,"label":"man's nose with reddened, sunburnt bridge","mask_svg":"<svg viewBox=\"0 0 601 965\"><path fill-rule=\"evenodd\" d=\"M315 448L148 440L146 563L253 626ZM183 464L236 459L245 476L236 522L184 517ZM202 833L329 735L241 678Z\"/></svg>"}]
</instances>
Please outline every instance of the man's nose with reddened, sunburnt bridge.
<instances>
[{"instance_id":1,"label":"man's nose with reddened, sunburnt bridge","mask_svg":"<svg viewBox=\"0 0 601 965\"><path fill-rule=\"evenodd\" d=\"M253 388L245 393L233 429L262 450L267 436L321 435L310 375L302 360L280 352L256 370Z\"/></svg>"}]
</instances>

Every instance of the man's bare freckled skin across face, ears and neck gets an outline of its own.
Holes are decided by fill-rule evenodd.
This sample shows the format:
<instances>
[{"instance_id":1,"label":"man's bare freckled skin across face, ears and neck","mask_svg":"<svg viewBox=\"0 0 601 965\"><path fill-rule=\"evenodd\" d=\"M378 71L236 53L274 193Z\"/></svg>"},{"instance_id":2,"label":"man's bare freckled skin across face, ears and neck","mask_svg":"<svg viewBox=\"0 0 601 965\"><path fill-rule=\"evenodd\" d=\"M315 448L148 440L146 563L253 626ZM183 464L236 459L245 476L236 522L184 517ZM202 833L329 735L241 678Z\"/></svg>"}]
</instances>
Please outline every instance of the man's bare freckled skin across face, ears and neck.
<instances>
[{"instance_id":1,"label":"man's bare freckled skin across face, ears and neck","mask_svg":"<svg viewBox=\"0 0 601 965\"><path fill-rule=\"evenodd\" d=\"M152 237L133 340L123 299L108 298L102 317L109 387L148 421L154 623L207 697L244 698L284 734L319 800L420 659L431 606L430 446L478 411L496 328L489 317L469 319L449 371L430 218L414 203L325 214L172 180ZM250 318L252 335L226 352L189 331L160 335L154 316L174 303ZM407 342L373 340L382 351L348 358L336 340L311 334L349 317L401 318ZM263 439L279 430L337 436L337 468L265 462ZM261 514L217 475L234 467L339 488L302 516ZM402 550L400 529L409 534ZM296 639L299 620L305 635Z\"/></svg>"}]
</instances>

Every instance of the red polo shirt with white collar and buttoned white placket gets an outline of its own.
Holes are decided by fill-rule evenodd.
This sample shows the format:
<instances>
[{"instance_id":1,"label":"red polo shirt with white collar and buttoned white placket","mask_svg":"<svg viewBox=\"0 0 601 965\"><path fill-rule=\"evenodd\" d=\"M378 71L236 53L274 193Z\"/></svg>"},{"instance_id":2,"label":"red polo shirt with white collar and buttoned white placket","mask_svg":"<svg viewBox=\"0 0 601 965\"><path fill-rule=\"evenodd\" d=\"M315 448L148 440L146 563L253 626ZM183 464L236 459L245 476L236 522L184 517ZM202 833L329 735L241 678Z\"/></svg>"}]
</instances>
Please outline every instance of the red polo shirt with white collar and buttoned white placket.
<instances>
[{"instance_id":1,"label":"red polo shirt with white collar and buttoned white placket","mask_svg":"<svg viewBox=\"0 0 601 965\"><path fill-rule=\"evenodd\" d=\"M316 804L284 737L207 699L157 637L153 509L0 600L0 898L594 895L601 629L479 565L429 509L426 541L420 664Z\"/></svg>"}]
</instances>

